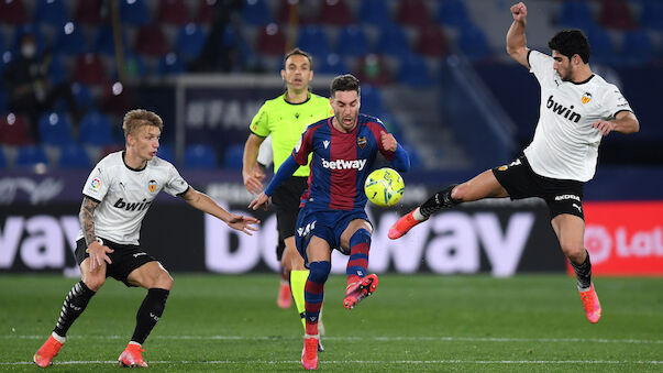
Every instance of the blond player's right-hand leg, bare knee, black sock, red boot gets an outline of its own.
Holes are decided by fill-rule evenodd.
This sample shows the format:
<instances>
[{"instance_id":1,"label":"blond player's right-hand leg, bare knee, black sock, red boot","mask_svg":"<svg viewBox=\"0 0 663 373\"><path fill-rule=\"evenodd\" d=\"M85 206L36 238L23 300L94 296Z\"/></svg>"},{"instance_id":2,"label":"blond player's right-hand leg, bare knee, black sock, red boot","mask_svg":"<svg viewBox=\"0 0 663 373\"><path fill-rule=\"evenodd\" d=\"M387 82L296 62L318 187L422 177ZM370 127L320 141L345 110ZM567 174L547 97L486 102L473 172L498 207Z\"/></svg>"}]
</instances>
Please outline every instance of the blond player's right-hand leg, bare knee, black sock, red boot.
<instances>
[{"instance_id":1,"label":"blond player's right-hand leg, bare knee, black sock, red boot","mask_svg":"<svg viewBox=\"0 0 663 373\"><path fill-rule=\"evenodd\" d=\"M126 349L118 358L123 366L147 367L143 360L142 345L161 319L166 307L166 300L173 288L173 277L158 262L150 262L131 272L126 281L131 285L147 289L147 295L136 314L136 327Z\"/></svg>"}]
</instances>

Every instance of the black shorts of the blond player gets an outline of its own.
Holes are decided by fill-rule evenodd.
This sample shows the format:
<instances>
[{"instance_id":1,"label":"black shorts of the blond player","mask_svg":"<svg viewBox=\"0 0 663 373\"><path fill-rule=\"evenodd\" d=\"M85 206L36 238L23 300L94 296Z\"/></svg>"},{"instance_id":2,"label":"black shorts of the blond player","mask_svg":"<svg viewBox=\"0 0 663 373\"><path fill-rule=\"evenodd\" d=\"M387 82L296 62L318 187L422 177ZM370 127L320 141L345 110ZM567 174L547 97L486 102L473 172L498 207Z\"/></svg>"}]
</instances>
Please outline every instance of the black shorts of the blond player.
<instances>
[{"instance_id":1,"label":"black shorts of the blond player","mask_svg":"<svg viewBox=\"0 0 663 373\"><path fill-rule=\"evenodd\" d=\"M126 286L134 286L126 281L126 277L129 277L129 274L133 270L145 263L156 262L156 259L144 252L139 245L120 244L107 239L101 239L101 241L109 249L114 250L114 252L108 254L112 264L107 265L106 277L113 277L117 281L123 282ZM80 265L86 257L90 256L90 254L85 252L87 248L88 245L85 243L85 239L76 241L75 255L78 265Z\"/></svg>"}]
</instances>

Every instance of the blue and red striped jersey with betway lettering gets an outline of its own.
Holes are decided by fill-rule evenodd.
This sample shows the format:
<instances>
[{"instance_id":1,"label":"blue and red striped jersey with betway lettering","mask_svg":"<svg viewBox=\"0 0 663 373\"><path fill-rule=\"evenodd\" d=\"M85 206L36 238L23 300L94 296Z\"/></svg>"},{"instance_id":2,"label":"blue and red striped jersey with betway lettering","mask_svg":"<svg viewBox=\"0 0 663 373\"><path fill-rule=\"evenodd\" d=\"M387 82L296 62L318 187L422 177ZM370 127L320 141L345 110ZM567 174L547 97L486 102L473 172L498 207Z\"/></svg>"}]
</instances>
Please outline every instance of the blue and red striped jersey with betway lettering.
<instances>
[{"instance_id":1,"label":"blue and red striped jersey with betway lettering","mask_svg":"<svg viewBox=\"0 0 663 373\"><path fill-rule=\"evenodd\" d=\"M302 195L302 205L323 210L353 210L366 206L364 183L380 152L391 161L394 152L383 147L380 132L387 132L375 117L360 114L357 125L341 132L323 119L307 128L292 151L295 161L305 165L309 153L311 173L309 189Z\"/></svg>"}]
</instances>

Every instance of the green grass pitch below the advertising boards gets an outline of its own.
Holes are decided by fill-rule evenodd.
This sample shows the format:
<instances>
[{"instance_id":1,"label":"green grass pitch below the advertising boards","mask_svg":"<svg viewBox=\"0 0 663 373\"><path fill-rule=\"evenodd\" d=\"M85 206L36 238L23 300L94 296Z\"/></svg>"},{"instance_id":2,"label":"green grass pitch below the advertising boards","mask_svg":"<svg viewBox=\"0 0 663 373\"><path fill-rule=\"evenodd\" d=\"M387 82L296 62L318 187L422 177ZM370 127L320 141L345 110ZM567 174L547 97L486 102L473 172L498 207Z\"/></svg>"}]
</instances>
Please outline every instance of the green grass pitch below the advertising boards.
<instances>
[{"instance_id":1,"label":"green grass pitch below the advertising boards","mask_svg":"<svg viewBox=\"0 0 663 373\"><path fill-rule=\"evenodd\" d=\"M166 310L144 344L151 369L301 371L295 308L276 307L278 276L175 275ZM328 372L651 372L663 370L663 278L597 278L604 307L585 319L564 275L382 275L357 308L345 279L325 286ZM76 279L0 276L0 371L34 371L32 355ZM117 371L145 290L109 278L69 330L52 372Z\"/></svg>"}]
</instances>

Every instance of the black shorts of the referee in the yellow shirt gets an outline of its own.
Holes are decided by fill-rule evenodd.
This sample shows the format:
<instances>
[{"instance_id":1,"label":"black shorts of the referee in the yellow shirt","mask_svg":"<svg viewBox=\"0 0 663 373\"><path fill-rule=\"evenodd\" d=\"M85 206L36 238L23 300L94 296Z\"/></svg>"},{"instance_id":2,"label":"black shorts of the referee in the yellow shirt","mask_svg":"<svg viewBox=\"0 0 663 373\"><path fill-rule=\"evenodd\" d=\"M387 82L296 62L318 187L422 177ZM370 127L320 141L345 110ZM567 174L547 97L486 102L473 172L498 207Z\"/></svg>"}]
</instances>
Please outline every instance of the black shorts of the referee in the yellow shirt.
<instances>
[{"instance_id":1,"label":"black shorts of the referee in the yellow shirt","mask_svg":"<svg viewBox=\"0 0 663 373\"><path fill-rule=\"evenodd\" d=\"M276 228L278 230L278 246L276 257L280 261L285 244L281 242L295 235L295 226L299 215L301 195L308 189L308 177L291 176L272 195L272 202L276 206Z\"/></svg>"}]
</instances>

